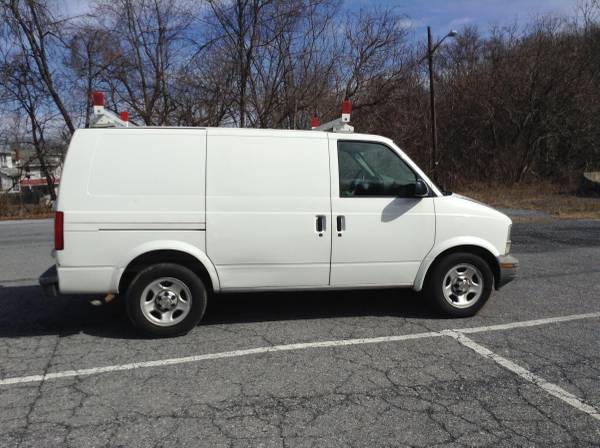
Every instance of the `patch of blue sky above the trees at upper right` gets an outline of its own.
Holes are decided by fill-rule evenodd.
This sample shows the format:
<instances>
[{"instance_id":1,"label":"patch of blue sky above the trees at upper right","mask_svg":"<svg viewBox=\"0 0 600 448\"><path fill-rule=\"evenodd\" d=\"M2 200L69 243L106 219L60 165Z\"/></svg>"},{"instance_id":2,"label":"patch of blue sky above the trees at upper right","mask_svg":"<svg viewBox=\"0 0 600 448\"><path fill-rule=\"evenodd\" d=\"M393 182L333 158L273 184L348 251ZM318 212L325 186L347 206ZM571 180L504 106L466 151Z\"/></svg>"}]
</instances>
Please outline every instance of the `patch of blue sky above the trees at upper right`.
<instances>
[{"instance_id":1,"label":"patch of blue sky above the trees at upper right","mask_svg":"<svg viewBox=\"0 0 600 448\"><path fill-rule=\"evenodd\" d=\"M344 5L351 11L394 7L407 16L406 24L416 34L430 25L440 36L465 25L485 31L491 25L526 23L541 15L574 15L577 0L344 0Z\"/></svg>"}]
</instances>

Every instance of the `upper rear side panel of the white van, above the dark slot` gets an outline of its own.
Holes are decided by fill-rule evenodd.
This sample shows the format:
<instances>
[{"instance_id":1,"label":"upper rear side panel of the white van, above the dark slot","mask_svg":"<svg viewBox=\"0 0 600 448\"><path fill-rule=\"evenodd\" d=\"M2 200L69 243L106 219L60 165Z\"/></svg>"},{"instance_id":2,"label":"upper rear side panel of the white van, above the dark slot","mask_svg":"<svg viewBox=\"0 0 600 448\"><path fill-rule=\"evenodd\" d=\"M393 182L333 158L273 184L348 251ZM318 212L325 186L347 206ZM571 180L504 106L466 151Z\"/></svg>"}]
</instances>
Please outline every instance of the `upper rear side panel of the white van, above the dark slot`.
<instances>
[{"instance_id":1,"label":"upper rear side panel of the white van, above the dark slot","mask_svg":"<svg viewBox=\"0 0 600 448\"><path fill-rule=\"evenodd\" d=\"M78 221L204 223L205 166L204 130L78 130L59 207Z\"/></svg>"}]
</instances>

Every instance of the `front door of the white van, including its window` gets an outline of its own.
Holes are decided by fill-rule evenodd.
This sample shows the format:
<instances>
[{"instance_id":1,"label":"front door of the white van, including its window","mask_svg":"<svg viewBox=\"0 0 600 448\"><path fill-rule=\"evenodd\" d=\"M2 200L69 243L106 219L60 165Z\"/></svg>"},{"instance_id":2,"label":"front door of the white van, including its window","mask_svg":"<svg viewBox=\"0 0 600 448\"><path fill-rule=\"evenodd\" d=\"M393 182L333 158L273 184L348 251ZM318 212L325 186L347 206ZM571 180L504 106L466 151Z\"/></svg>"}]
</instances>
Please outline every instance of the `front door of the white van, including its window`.
<instances>
[{"instance_id":1,"label":"front door of the white van, including its window","mask_svg":"<svg viewBox=\"0 0 600 448\"><path fill-rule=\"evenodd\" d=\"M331 286L412 285L435 239L432 197L391 146L330 137Z\"/></svg>"}]
</instances>

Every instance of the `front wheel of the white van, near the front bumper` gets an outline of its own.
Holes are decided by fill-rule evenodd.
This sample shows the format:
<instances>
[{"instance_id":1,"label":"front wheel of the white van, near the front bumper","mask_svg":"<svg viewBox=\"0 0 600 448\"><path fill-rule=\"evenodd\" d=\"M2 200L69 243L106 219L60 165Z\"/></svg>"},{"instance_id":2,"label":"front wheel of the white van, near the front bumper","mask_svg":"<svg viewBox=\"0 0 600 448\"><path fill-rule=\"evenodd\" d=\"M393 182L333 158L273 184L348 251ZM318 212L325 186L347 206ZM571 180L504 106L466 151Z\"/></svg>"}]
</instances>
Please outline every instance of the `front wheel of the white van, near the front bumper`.
<instances>
[{"instance_id":1,"label":"front wheel of the white van, near the front bumper","mask_svg":"<svg viewBox=\"0 0 600 448\"><path fill-rule=\"evenodd\" d=\"M475 269L471 270L469 266ZM453 274L450 271L457 267L459 268L458 272L462 269L463 273L471 273L471 275L464 275L464 277L469 277L470 282L464 286L468 288L464 294L461 294L461 285L452 281ZM479 279L479 277L481 278ZM463 280L458 280L458 282L460 281ZM478 298L477 293L470 292L471 285L477 289L477 284L480 284L481 288ZM456 285L457 289L453 289L452 285ZM444 286L448 286L448 288L446 289ZM492 269L483 258L468 252L457 252L445 256L432 267L427 276L425 293L430 304L444 316L469 317L475 315L485 305L492 294L493 286ZM445 289L446 294L444 293ZM455 294L454 291L458 291L458 293ZM473 295L471 296L471 294ZM470 302L468 297L472 297ZM461 298L464 300L463 302L460 302Z\"/></svg>"}]
</instances>

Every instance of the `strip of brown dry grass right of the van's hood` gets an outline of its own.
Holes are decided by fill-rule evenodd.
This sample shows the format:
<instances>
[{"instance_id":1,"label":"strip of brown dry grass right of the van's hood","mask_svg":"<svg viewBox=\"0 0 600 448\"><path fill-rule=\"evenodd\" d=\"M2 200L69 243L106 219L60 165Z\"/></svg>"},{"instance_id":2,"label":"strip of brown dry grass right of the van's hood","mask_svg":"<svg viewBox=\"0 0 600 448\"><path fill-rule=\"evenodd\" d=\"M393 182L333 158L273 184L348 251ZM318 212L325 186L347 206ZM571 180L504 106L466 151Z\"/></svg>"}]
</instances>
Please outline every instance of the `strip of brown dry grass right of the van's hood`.
<instances>
[{"instance_id":1,"label":"strip of brown dry grass right of the van's hood","mask_svg":"<svg viewBox=\"0 0 600 448\"><path fill-rule=\"evenodd\" d=\"M473 185L458 193L494 207L535 210L555 218L600 219L600 197L576 196L575 188L556 184L512 187Z\"/></svg>"}]
</instances>

